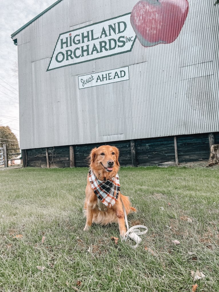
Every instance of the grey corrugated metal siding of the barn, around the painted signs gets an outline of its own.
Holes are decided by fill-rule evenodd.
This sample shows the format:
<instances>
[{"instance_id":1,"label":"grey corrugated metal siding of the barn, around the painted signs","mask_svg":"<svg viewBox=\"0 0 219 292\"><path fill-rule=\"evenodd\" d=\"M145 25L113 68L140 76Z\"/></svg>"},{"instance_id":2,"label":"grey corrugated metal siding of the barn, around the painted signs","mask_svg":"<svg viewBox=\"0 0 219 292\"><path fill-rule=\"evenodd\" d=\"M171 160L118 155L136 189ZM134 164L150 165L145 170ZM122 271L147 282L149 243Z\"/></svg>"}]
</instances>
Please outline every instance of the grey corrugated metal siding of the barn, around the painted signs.
<instances>
[{"instance_id":1,"label":"grey corrugated metal siding of the barn, around the painted signs","mask_svg":"<svg viewBox=\"0 0 219 292\"><path fill-rule=\"evenodd\" d=\"M21 149L219 131L219 6L189 1L178 38L46 72L60 33L131 12L137 1L63 0L18 39ZM78 88L78 76L129 67L129 80Z\"/></svg>"}]
</instances>

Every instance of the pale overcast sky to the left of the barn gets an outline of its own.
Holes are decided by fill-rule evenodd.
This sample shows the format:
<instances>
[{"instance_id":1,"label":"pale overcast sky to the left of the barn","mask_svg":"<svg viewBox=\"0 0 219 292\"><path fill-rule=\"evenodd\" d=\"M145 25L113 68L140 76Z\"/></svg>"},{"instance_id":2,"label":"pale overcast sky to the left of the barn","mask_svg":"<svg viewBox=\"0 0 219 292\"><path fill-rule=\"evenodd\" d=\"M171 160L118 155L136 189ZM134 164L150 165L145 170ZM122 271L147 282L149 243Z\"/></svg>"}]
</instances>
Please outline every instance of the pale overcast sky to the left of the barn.
<instances>
[{"instance_id":1,"label":"pale overcast sky to the left of the barn","mask_svg":"<svg viewBox=\"0 0 219 292\"><path fill-rule=\"evenodd\" d=\"M0 125L9 126L19 141L18 78L13 77L18 60L11 34L56 0L0 0Z\"/></svg>"}]
</instances>

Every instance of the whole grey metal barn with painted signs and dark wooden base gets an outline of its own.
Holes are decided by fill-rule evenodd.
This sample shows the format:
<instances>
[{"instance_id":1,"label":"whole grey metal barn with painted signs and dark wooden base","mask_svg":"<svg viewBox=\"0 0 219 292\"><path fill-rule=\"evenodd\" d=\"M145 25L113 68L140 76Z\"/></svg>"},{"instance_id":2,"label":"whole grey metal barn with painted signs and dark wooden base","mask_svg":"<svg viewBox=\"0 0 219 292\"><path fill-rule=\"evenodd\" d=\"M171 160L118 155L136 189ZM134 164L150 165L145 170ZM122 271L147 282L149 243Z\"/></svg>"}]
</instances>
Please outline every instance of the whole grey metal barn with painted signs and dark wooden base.
<instances>
[{"instance_id":1,"label":"whole grey metal barn with painted signs and dark wooden base","mask_svg":"<svg viewBox=\"0 0 219 292\"><path fill-rule=\"evenodd\" d=\"M59 0L14 32L24 166L87 166L103 144L124 166L208 159L219 143L213 3Z\"/></svg>"}]
</instances>

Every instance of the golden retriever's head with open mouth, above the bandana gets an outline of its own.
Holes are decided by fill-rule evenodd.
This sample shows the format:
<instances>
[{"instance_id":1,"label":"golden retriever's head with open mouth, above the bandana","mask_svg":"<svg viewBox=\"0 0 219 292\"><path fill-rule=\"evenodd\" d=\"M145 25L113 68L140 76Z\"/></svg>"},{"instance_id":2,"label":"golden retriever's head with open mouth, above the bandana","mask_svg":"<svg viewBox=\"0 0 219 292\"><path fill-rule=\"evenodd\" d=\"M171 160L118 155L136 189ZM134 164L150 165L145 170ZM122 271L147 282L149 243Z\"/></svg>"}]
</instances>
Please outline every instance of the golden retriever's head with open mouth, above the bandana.
<instances>
[{"instance_id":1,"label":"golden retriever's head with open mouth, above the bandana","mask_svg":"<svg viewBox=\"0 0 219 292\"><path fill-rule=\"evenodd\" d=\"M113 178L119 171L118 158L117 147L104 145L94 148L90 154L90 168L100 180Z\"/></svg>"}]
</instances>

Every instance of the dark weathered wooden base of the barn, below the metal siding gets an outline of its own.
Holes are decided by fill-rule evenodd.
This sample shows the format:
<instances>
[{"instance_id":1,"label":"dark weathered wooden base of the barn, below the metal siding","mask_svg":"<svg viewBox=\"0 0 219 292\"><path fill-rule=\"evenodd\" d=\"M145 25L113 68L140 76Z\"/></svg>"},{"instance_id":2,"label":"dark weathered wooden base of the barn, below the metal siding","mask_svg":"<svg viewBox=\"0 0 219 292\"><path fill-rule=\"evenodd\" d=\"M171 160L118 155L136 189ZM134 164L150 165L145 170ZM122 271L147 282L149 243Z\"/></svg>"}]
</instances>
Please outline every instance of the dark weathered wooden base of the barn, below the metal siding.
<instances>
[{"instance_id":1,"label":"dark weathered wooden base of the barn, below the metal siding","mask_svg":"<svg viewBox=\"0 0 219 292\"><path fill-rule=\"evenodd\" d=\"M121 166L178 165L195 161L207 163L211 145L219 144L219 132L26 149L22 150L23 166L87 167L91 150L106 144L119 148Z\"/></svg>"}]
</instances>

